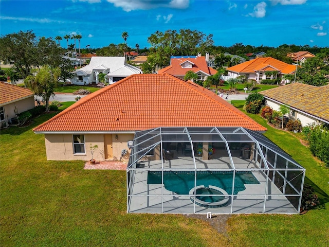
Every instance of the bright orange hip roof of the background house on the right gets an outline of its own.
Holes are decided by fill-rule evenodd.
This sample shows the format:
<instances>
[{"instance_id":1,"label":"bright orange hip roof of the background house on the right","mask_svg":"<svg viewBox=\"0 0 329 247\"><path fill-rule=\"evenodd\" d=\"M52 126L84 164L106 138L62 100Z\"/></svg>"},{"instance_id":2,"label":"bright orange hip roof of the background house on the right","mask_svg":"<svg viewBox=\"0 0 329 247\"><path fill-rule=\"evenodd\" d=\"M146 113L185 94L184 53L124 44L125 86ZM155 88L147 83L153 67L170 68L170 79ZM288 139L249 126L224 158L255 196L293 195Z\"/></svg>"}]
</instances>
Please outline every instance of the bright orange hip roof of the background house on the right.
<instances>
[{"instance_id":1,"label":"bright orange hip roof of the background house on the right","mask_svg":"<svg viewBox=\"0 0 329 247\"><path fill-rule=\"evenodd\" d=\"M271 66L273 70L277 70L282 74L290 74L295 72L296 70L295 65L287 64L271 57L255 58L247 62L229 67L227 68L227 70L237 73L255 73L258 70L263 71L262 68L265 68L266 66Z\"/></svg>"}]
</instances>

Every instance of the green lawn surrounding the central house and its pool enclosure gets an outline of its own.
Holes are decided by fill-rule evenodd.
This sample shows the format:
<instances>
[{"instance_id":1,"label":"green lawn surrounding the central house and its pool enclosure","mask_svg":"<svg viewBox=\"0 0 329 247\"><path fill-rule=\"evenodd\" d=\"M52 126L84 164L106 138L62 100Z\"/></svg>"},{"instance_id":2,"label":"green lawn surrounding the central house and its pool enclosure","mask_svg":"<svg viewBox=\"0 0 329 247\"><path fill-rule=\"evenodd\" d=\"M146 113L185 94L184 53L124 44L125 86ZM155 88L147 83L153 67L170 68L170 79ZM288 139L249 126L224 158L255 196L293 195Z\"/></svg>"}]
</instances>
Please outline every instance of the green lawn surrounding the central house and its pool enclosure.
<instances>
[{"instance_id":1,"label":"green lawn surrounding the central house and its pool enclosure","mask_svg":"<svg viewBox=\"0 0 329 247\"><path fill-rule=\"evenodd\" d=\"M232 101L243 105L243 101ZM66 103L63 108L68 107ZM227 235L182 215L126 214L126 173L83 170L82 161L47 161L43 135L32 128L1 130L2 246L328 246L329 175L288 132L266 136L306 168L320 197L305 215L234 215Z\"/></svg>"}]
</instances>

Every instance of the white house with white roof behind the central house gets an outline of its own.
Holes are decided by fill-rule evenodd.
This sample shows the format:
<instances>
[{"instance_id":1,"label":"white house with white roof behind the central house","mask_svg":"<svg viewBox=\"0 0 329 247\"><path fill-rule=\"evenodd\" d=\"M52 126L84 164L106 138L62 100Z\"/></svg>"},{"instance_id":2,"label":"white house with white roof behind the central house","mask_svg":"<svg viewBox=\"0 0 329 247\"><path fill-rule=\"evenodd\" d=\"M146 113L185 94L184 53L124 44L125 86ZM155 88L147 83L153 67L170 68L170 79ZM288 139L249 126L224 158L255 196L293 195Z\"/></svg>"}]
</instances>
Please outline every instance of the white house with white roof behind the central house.
<instances>
[{"instance_id":1,"label":"white house with white roof behind the central house","mask_svg":"<svg viewBox=\"0 0 329 247\"><path fill-rule=\"evenodd\" d=\"M99 83L99 74L106 74L106 83L112 84L134 74L142 74L140 68L125 63L124 57L92 57L90 63L74 72L72 84Z\"/></svg>"}]
</instances>

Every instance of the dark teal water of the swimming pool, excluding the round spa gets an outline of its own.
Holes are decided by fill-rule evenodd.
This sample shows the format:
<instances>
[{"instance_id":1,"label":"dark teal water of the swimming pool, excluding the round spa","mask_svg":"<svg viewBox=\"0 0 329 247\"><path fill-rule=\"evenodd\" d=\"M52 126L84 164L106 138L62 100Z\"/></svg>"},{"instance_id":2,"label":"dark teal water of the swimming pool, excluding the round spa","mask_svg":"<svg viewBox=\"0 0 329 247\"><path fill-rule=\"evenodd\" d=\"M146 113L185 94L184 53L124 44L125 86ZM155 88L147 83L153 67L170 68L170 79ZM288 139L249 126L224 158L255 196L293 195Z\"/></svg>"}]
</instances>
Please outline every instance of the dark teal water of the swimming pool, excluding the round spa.
<instances>
[{"instance_id":1,"label":"dark teal water of the swimming pool, excluding the round spa","mask_svg":"<svg viewBox=\"0 0 329 247\"><path fill-rule=\"evenodd\" d=\"M196 186L213 185L224 189L229 195L232 193L232 181L233 172L231 171L198 171L196 175ZM178 195L189 195L189 191L194 188L194 171L165 171L163 183L167 190ZM161 171L149 171L148 184L161 184ZM259 184L259 181L250 171L236 171L234 195L245 190L245 184Z\"/></svg>"}]
</instances>

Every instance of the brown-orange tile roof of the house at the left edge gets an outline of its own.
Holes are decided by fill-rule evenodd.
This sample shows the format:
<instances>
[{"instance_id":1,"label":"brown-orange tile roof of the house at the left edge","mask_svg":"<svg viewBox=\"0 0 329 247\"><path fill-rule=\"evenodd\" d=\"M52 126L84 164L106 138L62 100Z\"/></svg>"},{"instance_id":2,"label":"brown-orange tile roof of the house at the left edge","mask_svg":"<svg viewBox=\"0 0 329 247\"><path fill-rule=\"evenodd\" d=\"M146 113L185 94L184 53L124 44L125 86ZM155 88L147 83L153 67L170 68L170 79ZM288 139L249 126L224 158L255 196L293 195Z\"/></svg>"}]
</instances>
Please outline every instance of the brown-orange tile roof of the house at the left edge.
<instances>
[{"instance_id":1,"label":"brown-orange tile roof of the house at the left edge","mask_svg":"<svg viewBox=\"0 0 329 247\"><path fill-rule=\"evenodd\" d=\"M25 87L0 82L0 104L10 103L30 96L34 96L34 93Z\"/></svg>"}]
</instances>

